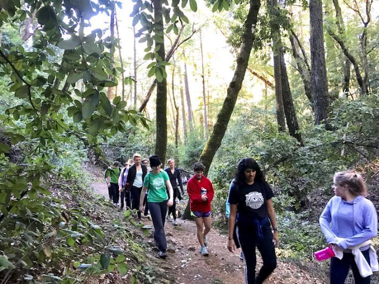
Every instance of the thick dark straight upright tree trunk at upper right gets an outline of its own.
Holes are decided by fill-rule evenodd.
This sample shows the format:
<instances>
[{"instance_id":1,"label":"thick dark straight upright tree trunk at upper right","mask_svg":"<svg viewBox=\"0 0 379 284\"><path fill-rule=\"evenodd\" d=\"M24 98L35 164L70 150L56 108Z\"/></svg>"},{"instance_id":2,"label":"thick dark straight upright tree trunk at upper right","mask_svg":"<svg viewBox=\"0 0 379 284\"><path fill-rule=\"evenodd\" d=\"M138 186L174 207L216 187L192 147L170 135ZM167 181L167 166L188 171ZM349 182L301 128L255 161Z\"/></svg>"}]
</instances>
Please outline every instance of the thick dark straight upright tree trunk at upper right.
<instances>
[{"instance_id":1,"label":"thick dark straight upright tree trunk at upper right","mask_svg":"<svg viewBox=\"0 0 379 284\"><path fill-rule=\"evenodd\" d=\"M310 44L312 66L313 101L316 125L326 122L329 110L328 79L326 75L323 9L321 0L309 1ZM330 127L327 125L327 128Z\"/></svg>"}]
</instances>

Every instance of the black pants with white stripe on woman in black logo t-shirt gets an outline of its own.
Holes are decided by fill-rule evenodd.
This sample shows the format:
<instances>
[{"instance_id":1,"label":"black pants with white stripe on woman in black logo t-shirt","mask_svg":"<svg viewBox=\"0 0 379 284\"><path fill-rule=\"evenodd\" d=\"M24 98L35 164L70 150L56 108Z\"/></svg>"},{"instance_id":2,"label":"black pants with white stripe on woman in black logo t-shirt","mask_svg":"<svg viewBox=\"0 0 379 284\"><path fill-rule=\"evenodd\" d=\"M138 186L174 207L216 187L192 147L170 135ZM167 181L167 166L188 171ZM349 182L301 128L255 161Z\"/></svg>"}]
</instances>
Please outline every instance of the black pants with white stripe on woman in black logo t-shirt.
<instances>
[{"instance_id":1,"label":"black pants with white stripe on woman in black logo t-shirt","mask_svg":"<svg viewBox=\"0 0 379 284\"><path fill-rule=\"evenodd\" d=\"M257 240L256 230L253 226L240 226L237 223L236 235L243 252L245 284L262 283L276 268L276 255L270 223L262 226L263 238ZM255 247L258 248L263 261L257 278L255 266L257 263Z\"/></svg>"}]
</instances>

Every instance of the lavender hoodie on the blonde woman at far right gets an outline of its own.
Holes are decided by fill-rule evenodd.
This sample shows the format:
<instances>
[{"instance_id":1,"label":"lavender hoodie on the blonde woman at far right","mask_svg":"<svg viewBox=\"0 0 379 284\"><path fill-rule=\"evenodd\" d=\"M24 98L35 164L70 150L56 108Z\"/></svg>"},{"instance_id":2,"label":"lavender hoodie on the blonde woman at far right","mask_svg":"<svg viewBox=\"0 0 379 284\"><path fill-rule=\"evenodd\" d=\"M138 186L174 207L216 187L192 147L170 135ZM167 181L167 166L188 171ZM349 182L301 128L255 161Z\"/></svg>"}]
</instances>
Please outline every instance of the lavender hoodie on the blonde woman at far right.
<instances>
[{"instance_id":1,"label":"lavender hoodie on the blonde woman at far right","mask_svg":"<svg viewBox=\"0 0 379 284\"><path fill-rule=\"evenodd\" d=\"M378 234L374 204L361 195L350 202L339 196L332 197L319 222L328 244L334 243L344 250L371 240ZM343 240L336 240L336 237Z\"/></svg>"}]
</instances>

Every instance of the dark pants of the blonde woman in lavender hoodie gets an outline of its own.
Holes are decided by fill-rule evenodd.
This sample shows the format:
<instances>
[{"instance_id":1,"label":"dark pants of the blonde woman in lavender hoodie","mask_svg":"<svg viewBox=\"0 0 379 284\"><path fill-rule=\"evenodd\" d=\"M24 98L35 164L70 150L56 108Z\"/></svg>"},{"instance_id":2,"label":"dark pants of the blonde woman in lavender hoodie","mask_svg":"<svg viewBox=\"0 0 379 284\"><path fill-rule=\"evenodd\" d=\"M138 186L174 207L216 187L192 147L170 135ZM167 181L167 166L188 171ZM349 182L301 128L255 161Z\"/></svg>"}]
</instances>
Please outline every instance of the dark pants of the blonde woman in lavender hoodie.
<instances>
[{"instance_id":1,"label":"dark pants of the blonde woman in lavender hoodie","mask_svg":"<svg viewBox=\"0 0 379 284\"><path fill-rule=\"evenodd\" d=\"M370 254L369 250L362 252L363 256L370 265ZM330 262L330 283L331 284L344 284L345 279L348 276L349 268L352 268L354 280L357 284L370 284L371 277L363 278L359 274L357 264L354 260L354 255L351 253L344 253L342 260L338 258L332 258Z\"/></svg>"}]
</instances>

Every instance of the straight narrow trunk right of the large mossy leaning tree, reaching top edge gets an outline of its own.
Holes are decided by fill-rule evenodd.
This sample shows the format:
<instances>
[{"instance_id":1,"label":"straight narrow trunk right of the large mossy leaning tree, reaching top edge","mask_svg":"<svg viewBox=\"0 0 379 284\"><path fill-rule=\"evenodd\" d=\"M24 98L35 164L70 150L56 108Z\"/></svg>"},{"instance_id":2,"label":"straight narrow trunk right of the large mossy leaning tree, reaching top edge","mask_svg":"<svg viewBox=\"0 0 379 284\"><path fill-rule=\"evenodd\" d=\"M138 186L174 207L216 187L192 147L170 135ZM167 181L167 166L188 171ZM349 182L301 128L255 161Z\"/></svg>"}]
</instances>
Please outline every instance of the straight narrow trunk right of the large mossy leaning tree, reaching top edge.
<instances>
[{"instance_id":1,"label":"straight narrow trunk right of the large mossy leaning tree, reaching top edge","mask_svg":"<svg viewBox=\"0 0 379 284\"><path fill-rule=\"evenodd\" d=\"M280 39L279 24L276 20L278 11L277 0L271 0L270 4L270 28L272 36L272 52L274 60L274 78L275 78L275 99L276 99L276 120L278 123L278 131L286 130L286 121L283 106L283 93L282 93L282 74L280 70L280 49L282 43Z\"/></svg>"}]
</instances>

